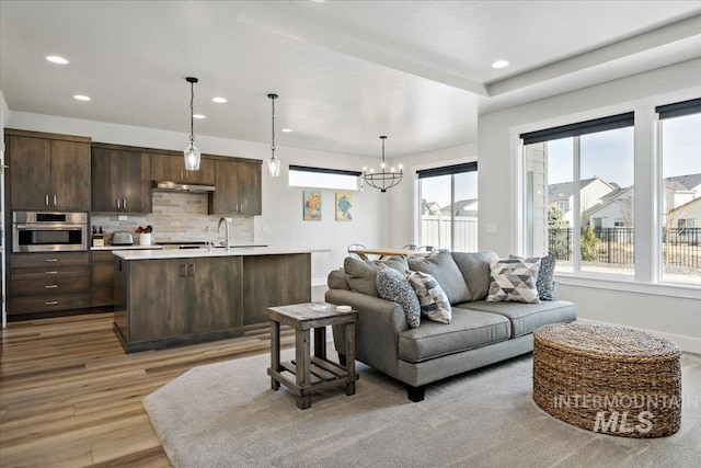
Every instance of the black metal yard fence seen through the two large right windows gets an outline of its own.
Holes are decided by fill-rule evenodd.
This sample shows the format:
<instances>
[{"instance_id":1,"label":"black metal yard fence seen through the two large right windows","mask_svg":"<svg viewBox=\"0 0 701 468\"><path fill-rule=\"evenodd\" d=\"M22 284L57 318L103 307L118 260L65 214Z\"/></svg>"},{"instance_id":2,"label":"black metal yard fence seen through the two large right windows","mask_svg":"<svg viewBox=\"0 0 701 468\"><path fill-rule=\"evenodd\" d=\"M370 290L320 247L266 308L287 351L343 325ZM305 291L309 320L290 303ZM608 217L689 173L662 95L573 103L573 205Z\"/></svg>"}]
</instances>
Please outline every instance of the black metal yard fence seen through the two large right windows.
<instances>
[{"instance_id":1,"label":"black metal yard fence seen through the two large right windows","mask_svg":"<svg viewBox=\"0 0 701 468\"><path fill-rule=\"evenodd\" d=\"M558 260L572 261L573 229L549 229L548 251L555 253ZM585 229L581 232L582 238ZM619 265L632 265L635 250L634 228L595 228L597 239L596 262ZM701 266L701 228L665 229L662 235L663 260L666 265Z\"/></svg>"}]
</instances>

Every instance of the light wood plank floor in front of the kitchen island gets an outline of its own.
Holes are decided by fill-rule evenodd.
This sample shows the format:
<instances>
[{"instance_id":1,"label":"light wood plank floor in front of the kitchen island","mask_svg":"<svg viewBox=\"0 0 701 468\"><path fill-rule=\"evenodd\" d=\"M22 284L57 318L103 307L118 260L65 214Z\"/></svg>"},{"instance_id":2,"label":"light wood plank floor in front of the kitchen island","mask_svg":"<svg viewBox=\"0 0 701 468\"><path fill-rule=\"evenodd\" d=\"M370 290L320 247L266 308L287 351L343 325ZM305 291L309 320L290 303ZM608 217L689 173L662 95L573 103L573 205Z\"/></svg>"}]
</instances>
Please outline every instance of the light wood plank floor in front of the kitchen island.
<instances>
[{"instance_id":1,"label":"light wood plank floor in front of the kitchen island","mask_svg":"<svg viewBox=\"0 0 701 468\"><path fill-rule=\"evenodd\" d=\"M0 361L0 466L170 466L141 399L203 364L269 352L243 338L125 354L112 313L11 322ZM281 342L294 343L289 330ZM265 372L265 370L263 370Z\"/></svg>"}]
</instances>

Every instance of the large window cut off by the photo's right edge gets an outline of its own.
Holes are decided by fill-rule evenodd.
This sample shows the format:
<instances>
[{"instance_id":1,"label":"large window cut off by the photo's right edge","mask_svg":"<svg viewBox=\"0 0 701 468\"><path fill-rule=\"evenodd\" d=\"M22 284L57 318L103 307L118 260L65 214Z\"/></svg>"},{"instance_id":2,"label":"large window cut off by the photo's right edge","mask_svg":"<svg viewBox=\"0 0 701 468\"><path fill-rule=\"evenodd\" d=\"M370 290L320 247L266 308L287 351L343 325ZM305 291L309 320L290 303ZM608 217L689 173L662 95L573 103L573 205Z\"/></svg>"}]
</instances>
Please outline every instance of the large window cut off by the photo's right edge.
<instances>
[{"instance_id":1,"label":"large window cut off by the photo's right edge","mask_svg":"<svg viewBox=\"0 0 701 468\"><path fill-rule=\"evenodd\" d=\"M701 285L701 99L663 105L662 281Z\"/></svg>"}]
</instances>

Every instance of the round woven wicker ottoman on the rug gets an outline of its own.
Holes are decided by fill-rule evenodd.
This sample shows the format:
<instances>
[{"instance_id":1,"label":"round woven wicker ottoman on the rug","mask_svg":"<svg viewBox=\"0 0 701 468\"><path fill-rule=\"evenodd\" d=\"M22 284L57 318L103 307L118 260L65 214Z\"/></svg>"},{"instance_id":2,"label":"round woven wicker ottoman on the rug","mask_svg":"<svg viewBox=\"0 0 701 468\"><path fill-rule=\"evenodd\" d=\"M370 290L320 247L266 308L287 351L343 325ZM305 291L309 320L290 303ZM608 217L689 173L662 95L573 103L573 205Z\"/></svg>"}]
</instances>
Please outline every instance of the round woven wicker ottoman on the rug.
<instances>
[{"instance_id":1,"label":"round woven wicker ottoman on the rug","mask_svg":"<svg viewBox=\"0 0 701 468\"><path fill-rule=\"evenodd\" d=\"M677 344L636 330L555 323L533 332L533 400L561 421L622 437L679 430Z\"/></svg>"}]
</instances>

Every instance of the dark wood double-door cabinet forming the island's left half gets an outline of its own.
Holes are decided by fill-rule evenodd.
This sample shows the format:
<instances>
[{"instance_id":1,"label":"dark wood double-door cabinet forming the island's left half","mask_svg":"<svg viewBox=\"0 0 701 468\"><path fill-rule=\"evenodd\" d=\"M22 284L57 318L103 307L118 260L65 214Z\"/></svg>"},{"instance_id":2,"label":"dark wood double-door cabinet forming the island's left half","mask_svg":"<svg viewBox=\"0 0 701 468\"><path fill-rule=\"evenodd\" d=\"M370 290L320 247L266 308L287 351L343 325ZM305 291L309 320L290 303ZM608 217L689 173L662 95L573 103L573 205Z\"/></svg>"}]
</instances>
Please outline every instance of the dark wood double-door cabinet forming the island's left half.
<instances>
[{"instance_id":1,"label":"dark wood double-door cabinet forming the island's left half","mask_svg":"<svg viewBox=\"0 0 701 468\"><path fill-rule=\"evenodd\" d=\"M241 258L118 260L115 295L125 304L115 308L115 323L127 351L208 333L242 334L242 263Z\"/></svg>"}]
</instances>

